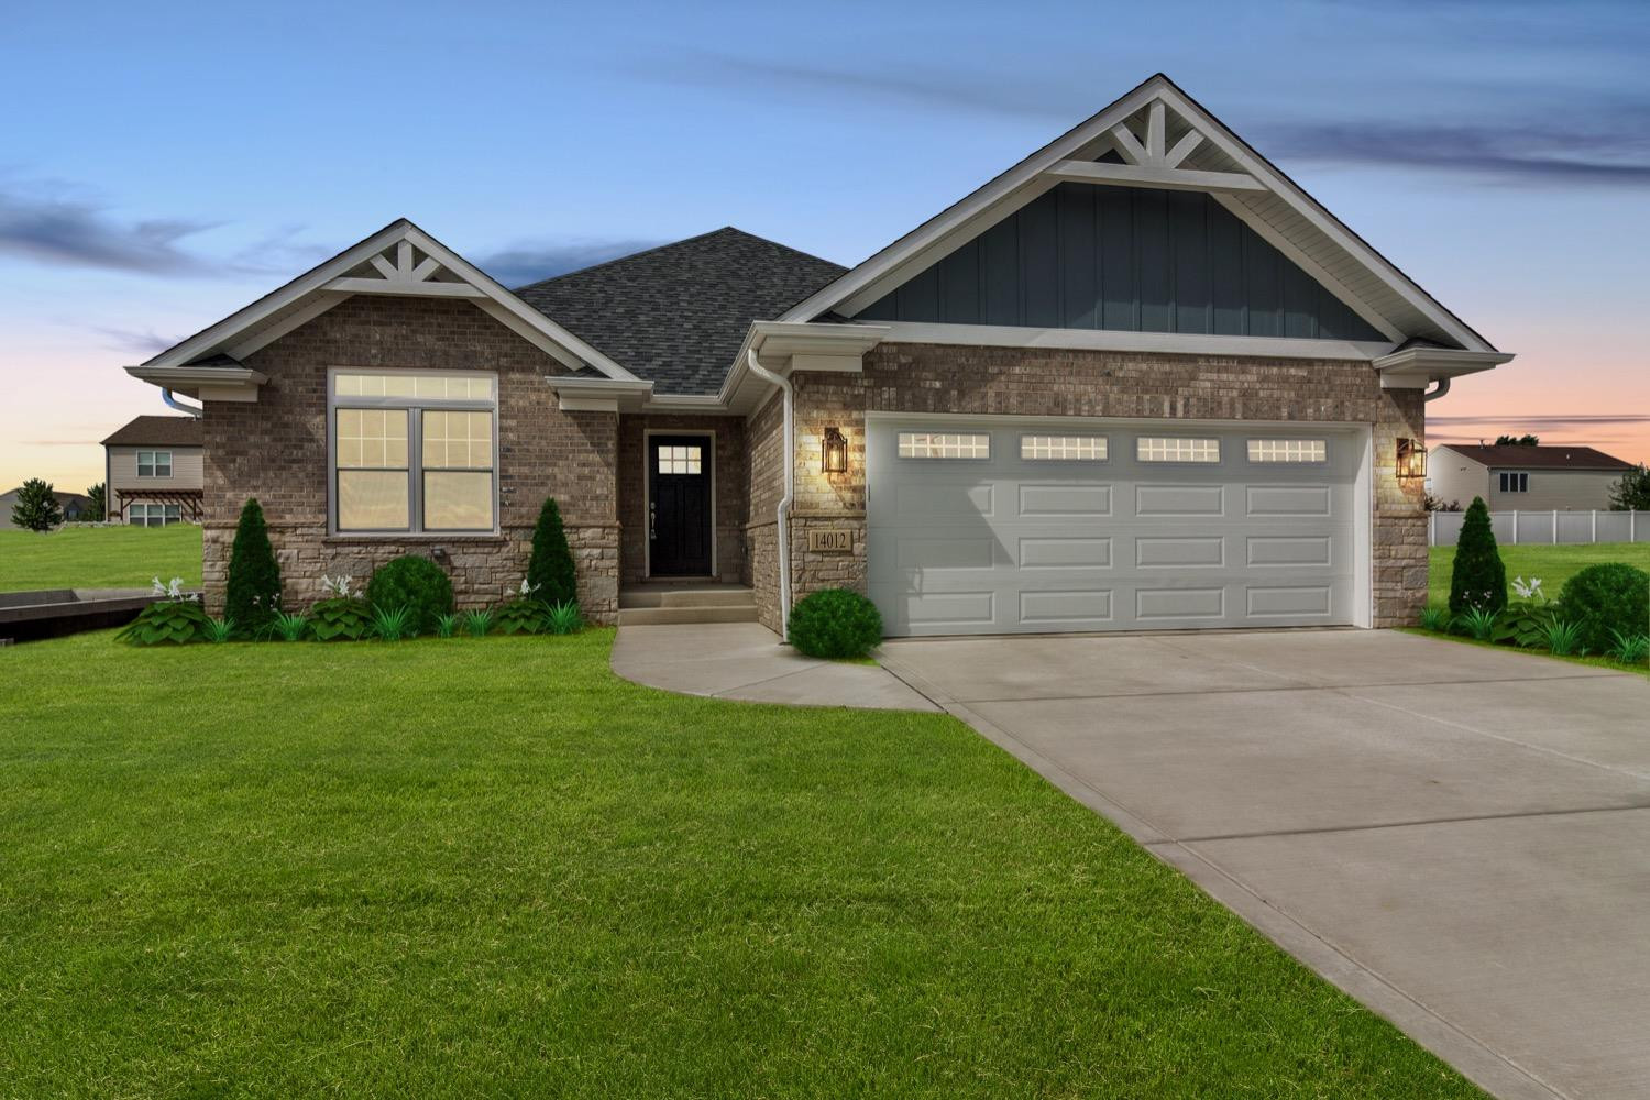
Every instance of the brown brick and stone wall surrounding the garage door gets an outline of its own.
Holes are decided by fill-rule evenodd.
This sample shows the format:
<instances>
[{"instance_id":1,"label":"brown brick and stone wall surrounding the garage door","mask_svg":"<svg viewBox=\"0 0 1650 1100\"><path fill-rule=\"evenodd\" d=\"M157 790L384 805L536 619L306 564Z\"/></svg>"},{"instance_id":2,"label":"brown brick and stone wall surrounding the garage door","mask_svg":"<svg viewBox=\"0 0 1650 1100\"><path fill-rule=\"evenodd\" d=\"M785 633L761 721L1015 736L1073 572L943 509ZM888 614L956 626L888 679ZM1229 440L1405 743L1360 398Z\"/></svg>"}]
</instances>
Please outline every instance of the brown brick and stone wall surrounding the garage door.
<instances>
[{"instance_id":1,"label":"brown brick and stone wall surrounding the garage door","mask_svg":"<svg viewBox=\"0 0 1650 1100\"><path fill-rule=\"evenodd\" d=\"M972 412L1373 425L1374 625L1414 622L1426 602L1422 487L1396 478L1396 439L1424 435L1419 391L1383 391L1366 363L1157 353L881 345L863 374L795 374L792 599L822 587L865 590L865 414ZM771 406L772 407L772 406ZM752 417L751 437L756 439ZM848 473L820 472L827 425L848 434ZM752 472L757 463L752 460ZM777 483L777 472L762 478ZM757 487L752 485L752 498ZM761 518L762 510L752 508ZM810 526L851 528L853 554L810 554ZM761 592L761 572L752 567ZM777 594L759 600L779 625Z\"/></svg>"}]
</instances>

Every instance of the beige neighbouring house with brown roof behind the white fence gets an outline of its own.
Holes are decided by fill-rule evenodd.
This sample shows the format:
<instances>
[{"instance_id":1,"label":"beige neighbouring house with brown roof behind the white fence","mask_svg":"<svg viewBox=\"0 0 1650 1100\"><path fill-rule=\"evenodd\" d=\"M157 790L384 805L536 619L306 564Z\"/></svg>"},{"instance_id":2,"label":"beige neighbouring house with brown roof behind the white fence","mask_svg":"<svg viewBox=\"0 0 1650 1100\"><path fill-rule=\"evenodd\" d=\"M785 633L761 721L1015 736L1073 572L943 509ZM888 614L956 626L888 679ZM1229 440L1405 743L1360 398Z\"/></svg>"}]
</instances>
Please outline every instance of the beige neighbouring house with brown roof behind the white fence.
<instances>
[{"instance_id":1,"label":"beige neighbouring house with brown roof behind the white fence","mask_svg":"<svg viewBox=\"0 0 1650 1100\"><path fill-rule=\"evenodd\" d=\"M1439 500L1467 505L1482 496L1490 511L1604 511L1632 468L1592 447L1440 444L1429 480Z\"/></svg>"}]
</instances>

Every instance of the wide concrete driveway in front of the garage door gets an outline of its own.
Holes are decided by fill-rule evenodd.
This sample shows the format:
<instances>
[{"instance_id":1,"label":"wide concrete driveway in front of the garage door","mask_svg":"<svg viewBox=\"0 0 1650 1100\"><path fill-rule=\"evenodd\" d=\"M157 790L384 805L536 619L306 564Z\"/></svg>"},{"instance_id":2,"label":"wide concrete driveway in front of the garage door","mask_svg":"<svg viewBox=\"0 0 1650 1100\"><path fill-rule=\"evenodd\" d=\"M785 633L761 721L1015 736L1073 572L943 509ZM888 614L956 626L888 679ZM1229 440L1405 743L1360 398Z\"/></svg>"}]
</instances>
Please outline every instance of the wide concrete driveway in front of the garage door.
<instances>
[{"instance_id":1,"label":"wide concrete driveway in front of the garage door","mask_svg":"<svg viewBox=\"0 0 1650 1100\"><path fill-rule=\"evenodd\" d=\"M884 655L1490 1092L1650 1095L1650 681L1363 630Z\"/></svg>"}]
</instances>

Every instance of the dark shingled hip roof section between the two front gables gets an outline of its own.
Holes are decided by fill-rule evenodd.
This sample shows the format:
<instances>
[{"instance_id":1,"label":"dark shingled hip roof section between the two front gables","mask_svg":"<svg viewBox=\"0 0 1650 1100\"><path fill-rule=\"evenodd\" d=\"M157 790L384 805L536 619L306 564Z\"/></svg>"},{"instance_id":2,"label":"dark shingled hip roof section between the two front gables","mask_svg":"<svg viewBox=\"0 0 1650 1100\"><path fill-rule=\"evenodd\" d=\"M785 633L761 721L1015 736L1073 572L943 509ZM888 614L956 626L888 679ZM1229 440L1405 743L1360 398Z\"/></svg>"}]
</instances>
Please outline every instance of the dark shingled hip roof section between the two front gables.
<instances>
[{"instance_id":1,"label":"dark shingled hip roof section between the two front gables","mask_svg":"<svg viewBox=\"0 0 1650 1100\"><path fill-rule=\"evenodd\" d=\"M779 317L845 270L726 226L515 294L657 393L711 394L751 322Z\"/></svg>"}]
</instances>

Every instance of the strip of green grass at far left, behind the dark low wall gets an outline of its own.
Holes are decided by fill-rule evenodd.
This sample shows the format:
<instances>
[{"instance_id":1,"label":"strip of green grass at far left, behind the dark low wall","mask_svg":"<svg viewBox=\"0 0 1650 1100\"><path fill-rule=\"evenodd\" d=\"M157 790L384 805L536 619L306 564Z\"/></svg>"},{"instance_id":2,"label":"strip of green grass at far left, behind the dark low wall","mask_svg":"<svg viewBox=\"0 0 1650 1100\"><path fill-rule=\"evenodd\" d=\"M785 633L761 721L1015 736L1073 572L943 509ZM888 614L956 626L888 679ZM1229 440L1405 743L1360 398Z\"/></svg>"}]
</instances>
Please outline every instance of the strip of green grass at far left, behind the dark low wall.
<instances>
[{"instance_id":1,"label":"strip of green grass at far left, behind the dark low wall","mask_svg":"<svg viewBox=\"0 0 1650 1100\"><path fill-rule=\"evenodd\" d=\"M50 534L0 531L0 592L30 589L147 589L150 577L201 582L201 529L58 528Z\"/></svg>"}]
</instances>

